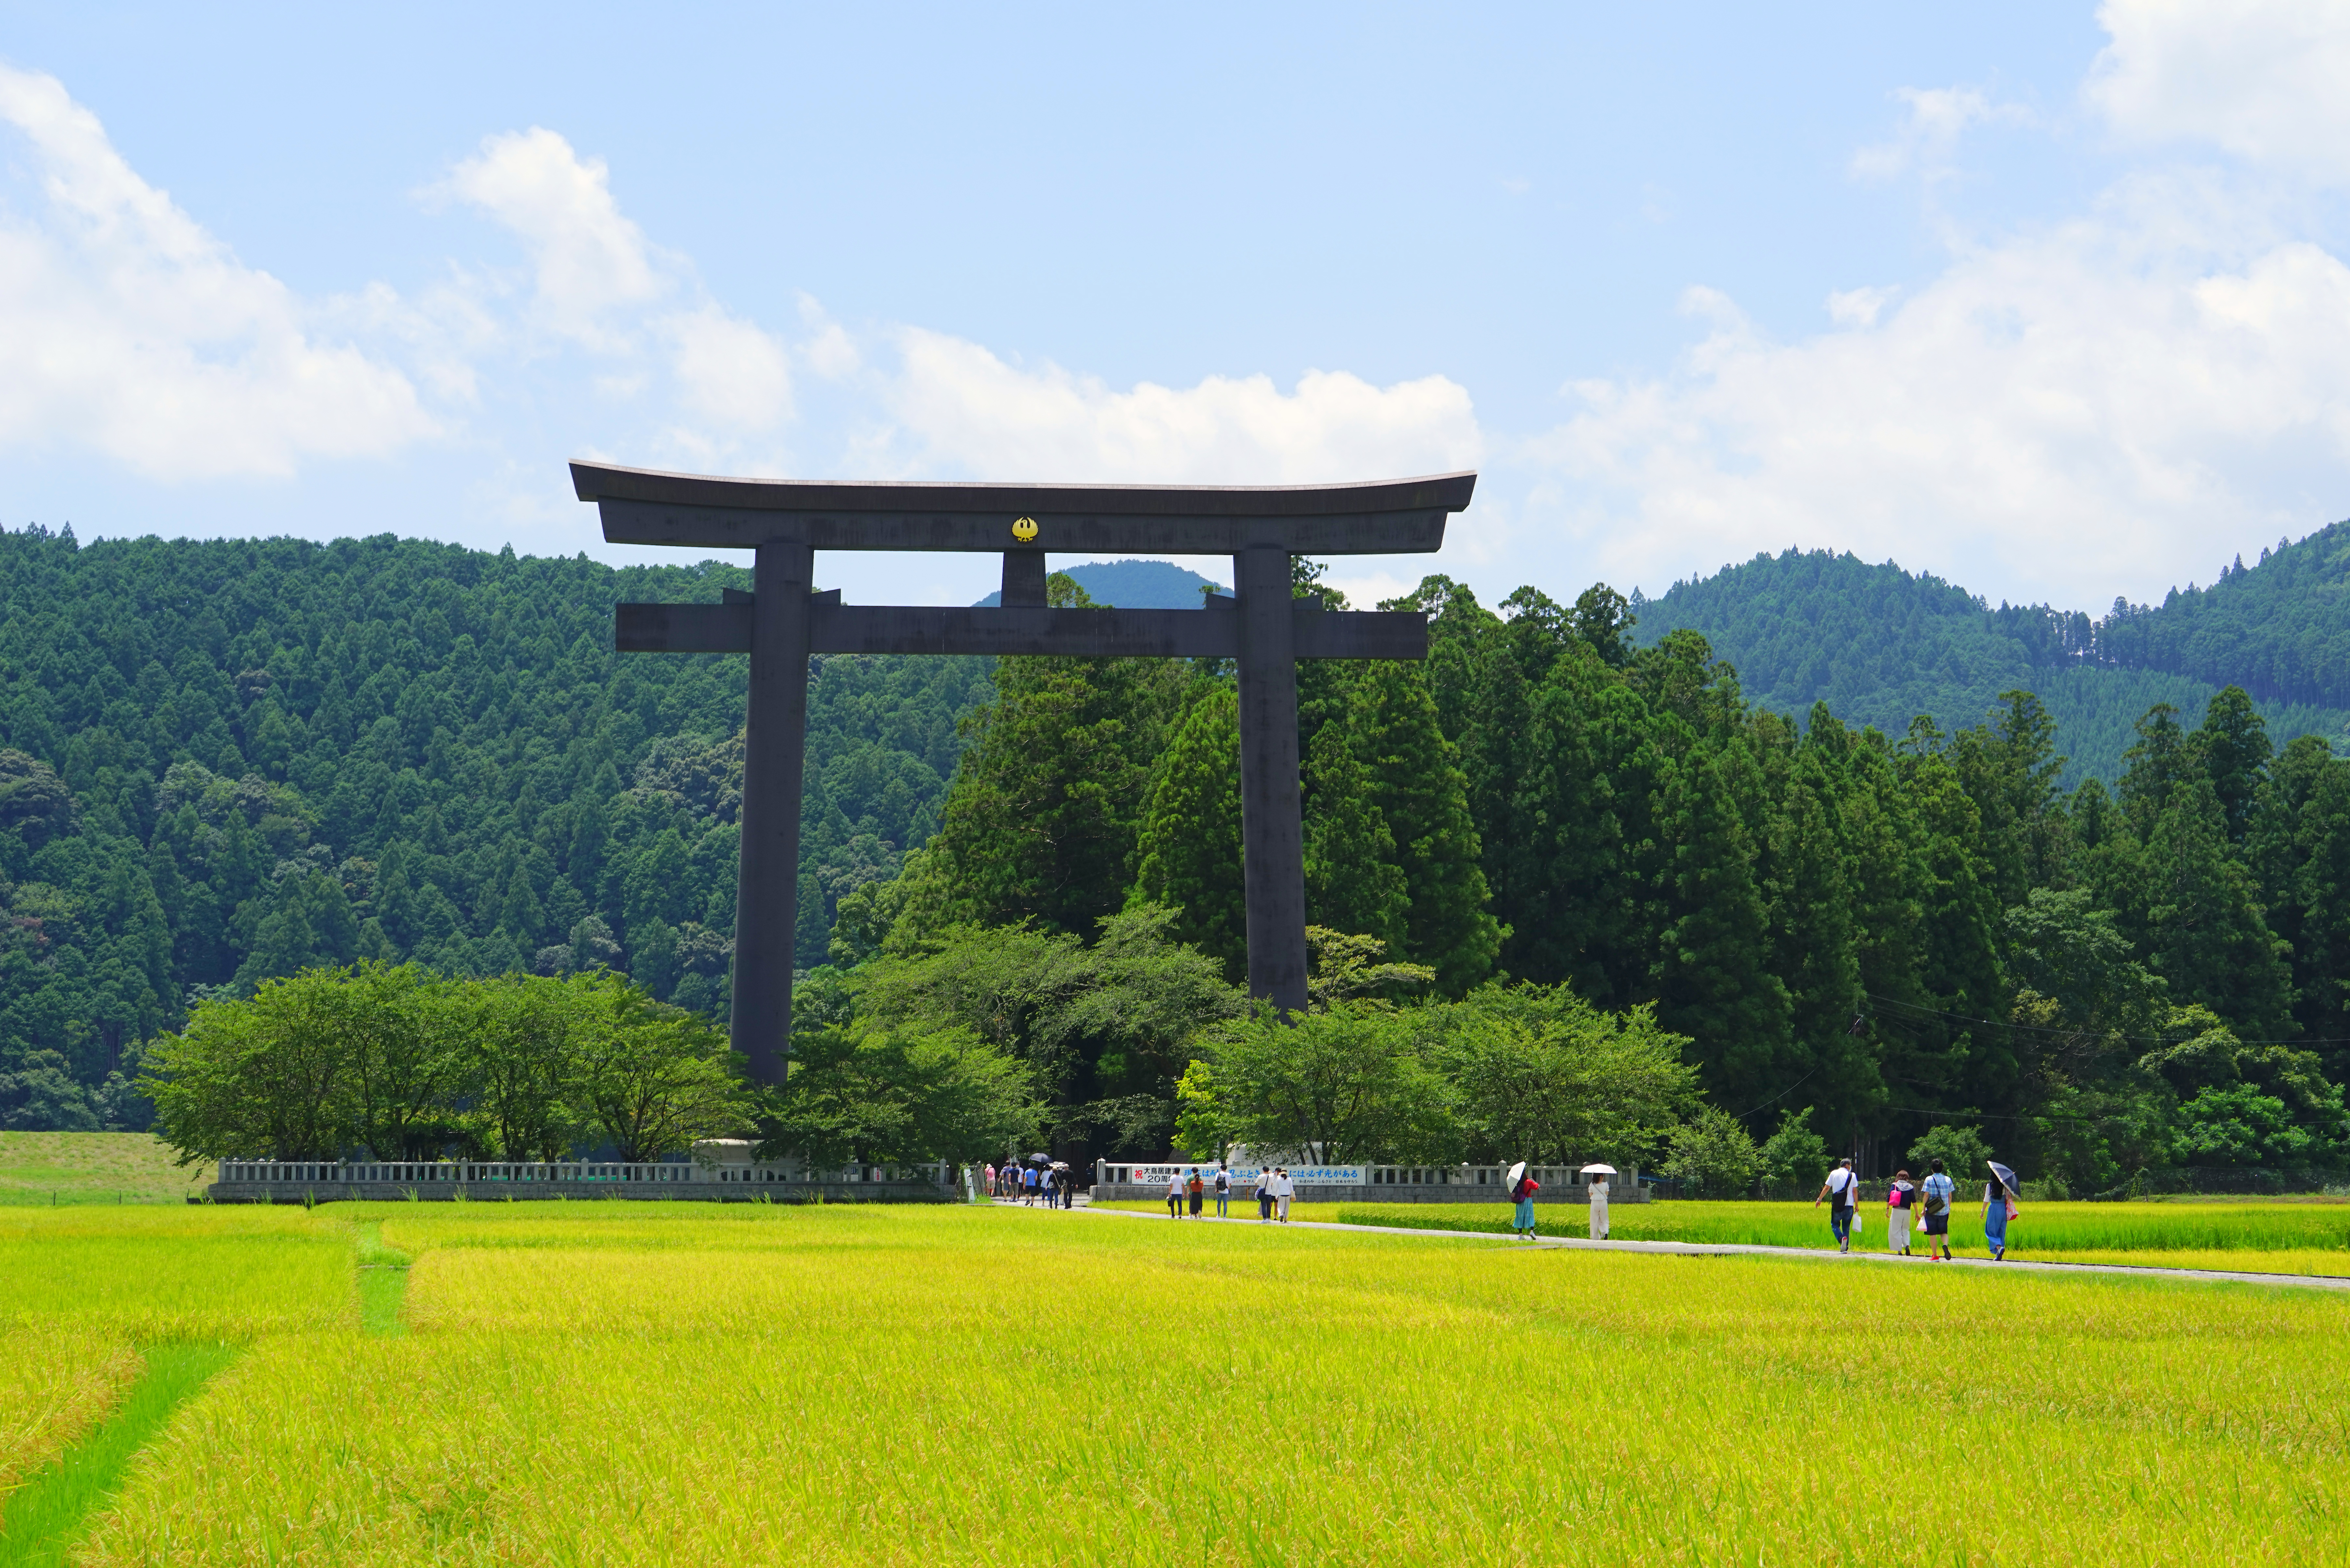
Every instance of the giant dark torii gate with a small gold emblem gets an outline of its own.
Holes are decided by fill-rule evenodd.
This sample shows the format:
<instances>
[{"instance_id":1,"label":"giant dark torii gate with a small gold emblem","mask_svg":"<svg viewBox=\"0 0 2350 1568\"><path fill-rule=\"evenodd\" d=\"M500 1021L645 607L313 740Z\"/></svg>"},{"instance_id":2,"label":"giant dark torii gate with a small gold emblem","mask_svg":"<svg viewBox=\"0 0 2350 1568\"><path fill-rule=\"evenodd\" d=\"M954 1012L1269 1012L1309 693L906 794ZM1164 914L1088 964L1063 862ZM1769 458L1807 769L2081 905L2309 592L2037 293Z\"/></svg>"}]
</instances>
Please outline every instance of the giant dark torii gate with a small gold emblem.
<instances>
[{"instance_id":1,"label":"giant dark torii gate with a small gold emblem","mask_svg":"<svg viewBox=\"0 0 2350 1568\"><path fill-rule=\"evenodd\" d=\"M783 1084L792 1044L799 785L808 654L1231 658L1241 670L1241 860L1248 990L1307 1006L1307 879L1297 799L1297 661L1426 658L1415 611L1325 611L1290 592L1295 555L1408 555L1445 541L1473 473L1377 484L851 484L717 480L573 463L616 545L754 550L754 592L724 604L620 604L620 654L750 654L733 1048ZM818 550L1003 555L1001 609L841 604ZM1229 555L1236 597L1201 609L1048 609L1046 550Z\"/></svg>"}]
</instances>

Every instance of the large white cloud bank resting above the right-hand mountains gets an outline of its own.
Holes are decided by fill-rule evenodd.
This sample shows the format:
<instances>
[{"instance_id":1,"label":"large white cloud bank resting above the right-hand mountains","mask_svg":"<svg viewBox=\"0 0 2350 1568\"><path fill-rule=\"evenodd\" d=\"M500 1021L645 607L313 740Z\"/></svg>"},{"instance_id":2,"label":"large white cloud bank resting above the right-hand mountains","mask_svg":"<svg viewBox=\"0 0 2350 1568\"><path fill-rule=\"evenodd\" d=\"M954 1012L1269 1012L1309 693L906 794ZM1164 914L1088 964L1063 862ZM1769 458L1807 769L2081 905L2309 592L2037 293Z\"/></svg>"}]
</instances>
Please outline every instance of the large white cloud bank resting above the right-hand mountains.
<instances>
[{"instance_id":1,"label":"large white cloud bank resting above the right-hand mountains","mask_svg":"<svg viewBox=\"0 0 2350 1568\"><path fill-rule=\"evenodd\" d=\"M2131 181L1795 343L1701 299L1676 376L1572 388L1535 454L1579 494L1546 510L1650 588L1802 543L2066 604L2308 531L2350 489L2350 268L2186 244L2204 207Z\"/></svg>"}]
</instances>

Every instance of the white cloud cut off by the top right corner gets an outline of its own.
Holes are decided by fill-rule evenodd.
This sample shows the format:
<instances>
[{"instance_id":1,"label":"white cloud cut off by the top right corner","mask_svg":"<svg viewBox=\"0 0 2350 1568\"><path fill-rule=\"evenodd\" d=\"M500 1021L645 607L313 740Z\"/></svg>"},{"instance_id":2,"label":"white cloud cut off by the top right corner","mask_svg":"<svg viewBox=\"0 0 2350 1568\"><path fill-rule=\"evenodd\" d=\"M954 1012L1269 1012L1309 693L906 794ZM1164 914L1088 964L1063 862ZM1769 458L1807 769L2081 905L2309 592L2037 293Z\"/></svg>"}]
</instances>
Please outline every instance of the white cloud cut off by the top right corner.
<instances>
[{"instance_id":1,"label":"white cloud cut off by the top right corner","mask_svg":"<svg viewBox=\"0 0 2350 1568\"><path fill-rule=\"evenodd\" d=\"M2350 5L2108 0L2087 99L2131 141L2207 141L2350 176Z\"/></svg>"}]
</instances>

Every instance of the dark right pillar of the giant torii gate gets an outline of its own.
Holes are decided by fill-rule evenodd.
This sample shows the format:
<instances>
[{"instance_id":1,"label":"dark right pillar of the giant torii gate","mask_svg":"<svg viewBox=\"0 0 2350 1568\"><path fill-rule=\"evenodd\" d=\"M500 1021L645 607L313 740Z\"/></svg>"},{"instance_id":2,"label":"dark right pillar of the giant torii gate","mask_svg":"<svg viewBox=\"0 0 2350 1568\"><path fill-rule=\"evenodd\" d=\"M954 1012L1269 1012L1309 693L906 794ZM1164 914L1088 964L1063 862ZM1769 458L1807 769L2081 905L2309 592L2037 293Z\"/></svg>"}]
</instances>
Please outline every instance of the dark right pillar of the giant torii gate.
<instances>
[{"instance_id":1,"label":"dark right pillar of the giant torii gate","mask_svg":"<svg viewBox=\"0 0 2350 1568\"><path fill-rule=\"evenodd\" d=\"M1241 604L1241 879L1248 994L1307 1011L1307 849L1297 780L1297 618L1290 552L1231 557Z\"/></svg>"}]
</instances>

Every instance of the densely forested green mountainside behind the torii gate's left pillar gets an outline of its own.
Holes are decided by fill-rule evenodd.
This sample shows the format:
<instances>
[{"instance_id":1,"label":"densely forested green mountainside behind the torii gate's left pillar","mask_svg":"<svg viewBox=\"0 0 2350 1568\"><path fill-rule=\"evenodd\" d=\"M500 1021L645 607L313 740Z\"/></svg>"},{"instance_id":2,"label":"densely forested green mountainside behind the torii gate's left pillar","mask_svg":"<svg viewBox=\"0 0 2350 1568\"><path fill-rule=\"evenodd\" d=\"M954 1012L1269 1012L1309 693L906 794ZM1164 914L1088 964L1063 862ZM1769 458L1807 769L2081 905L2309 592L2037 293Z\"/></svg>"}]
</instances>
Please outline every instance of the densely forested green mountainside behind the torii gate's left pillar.
<instances>
[{"instance_id":1,"label":"densely forested green mountainside behind the torii gate's left pillar","mask_svg":"<svg viewBox=\"0 0 2350 1568\"><path fill-rule=\"evenodd\" d=\"M364 538L0 536L0 1117L101 1093L204 987L352 957L611 961L724 1016L743 658L616 656L611 569ZM804 943L938 827L973 658L811 672Z\"/></svg>"}]
</instances>

